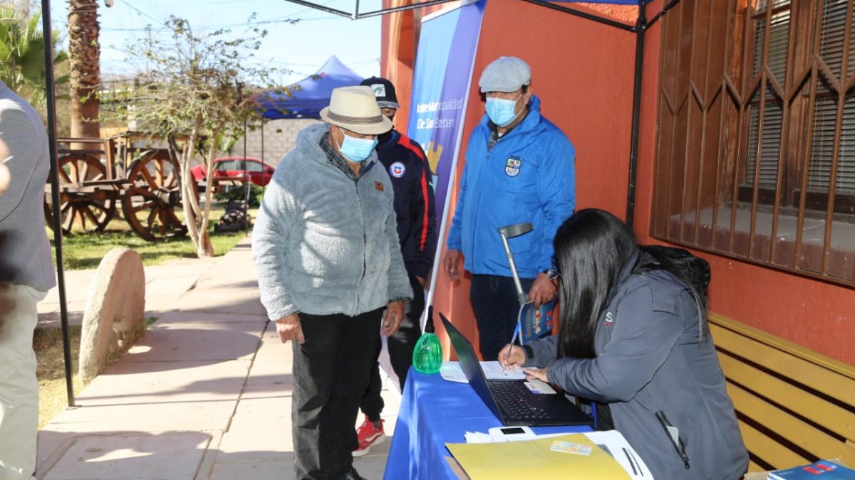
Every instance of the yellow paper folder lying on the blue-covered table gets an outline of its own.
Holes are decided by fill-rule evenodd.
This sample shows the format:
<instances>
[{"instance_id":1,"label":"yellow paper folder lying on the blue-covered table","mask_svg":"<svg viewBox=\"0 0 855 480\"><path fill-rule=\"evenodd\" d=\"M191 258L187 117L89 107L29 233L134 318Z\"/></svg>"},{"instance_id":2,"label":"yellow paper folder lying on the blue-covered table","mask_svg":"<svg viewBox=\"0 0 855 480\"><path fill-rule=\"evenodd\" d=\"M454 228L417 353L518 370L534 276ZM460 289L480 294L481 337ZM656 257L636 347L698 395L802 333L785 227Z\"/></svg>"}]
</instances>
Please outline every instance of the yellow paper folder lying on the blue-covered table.
<instances>
[{"instance_id":1,"label":"yellow paper folder lying on the blue-covered table","mask_svg":"<svg viewBox=\"0 0 855 480\"><path fill-rule=\"evenodd\" d=\"M550 449L553 442L589 445L591 454L556 452ZM621 465L581 433L523 442L446 443L445 447L472 480L630 480Z\"/></svg>"}]
</instances>

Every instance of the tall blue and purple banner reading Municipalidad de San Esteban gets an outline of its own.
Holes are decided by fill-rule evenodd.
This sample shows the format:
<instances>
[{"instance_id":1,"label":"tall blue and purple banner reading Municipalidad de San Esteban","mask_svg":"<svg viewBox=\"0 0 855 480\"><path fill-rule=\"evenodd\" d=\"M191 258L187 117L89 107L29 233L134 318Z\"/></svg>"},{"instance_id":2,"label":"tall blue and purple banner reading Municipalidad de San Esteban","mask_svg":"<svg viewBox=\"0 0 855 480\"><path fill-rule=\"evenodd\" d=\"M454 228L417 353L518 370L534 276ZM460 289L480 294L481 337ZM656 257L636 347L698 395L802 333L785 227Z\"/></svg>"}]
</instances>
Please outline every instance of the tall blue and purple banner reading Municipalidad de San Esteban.
<instances>
[{"instance_id":1,"label":"tall blue and purple banner reading Municipalidad de San Esteban","mask_svg":"<svg viewBox=\"0 0 855 480\"><path fill-rule=\"evenodd\" d=\"M420 143L428 155L433 172L436 211L442 213L428 305L433 303L433 288L437 272L441 269L442 242L446 224L450 221L448 199L463 139L463 116L472 85L484 4L485 0L479 0L425 17L416 52L407 135ZM422 327L427 312L428 308L425 308Z\"/></svg>"}]
</instances>

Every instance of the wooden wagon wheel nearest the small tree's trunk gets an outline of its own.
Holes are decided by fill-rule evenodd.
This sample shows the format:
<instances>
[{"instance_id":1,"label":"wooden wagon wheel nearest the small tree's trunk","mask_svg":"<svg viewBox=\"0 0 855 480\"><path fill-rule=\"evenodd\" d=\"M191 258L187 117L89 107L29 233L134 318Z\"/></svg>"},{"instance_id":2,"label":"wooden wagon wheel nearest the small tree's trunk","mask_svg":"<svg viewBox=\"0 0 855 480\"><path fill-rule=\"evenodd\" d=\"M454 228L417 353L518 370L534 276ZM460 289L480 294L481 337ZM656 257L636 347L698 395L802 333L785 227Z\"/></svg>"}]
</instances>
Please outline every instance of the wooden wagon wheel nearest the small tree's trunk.
<instances>
[{"instance_id":1,"label":"wooden wagon wheel nearest the small tree's trunk","mask_svg":"<svg viewBox=\"0 0 855 480\"><path fill-rule=\"evenodd\" d=\"M175 215L175 208L181 208L180 168L177 162L158 154L150 150L131 163L121 197L127 225L150 242L187 232Z\"/></svg>"}]
</instances>

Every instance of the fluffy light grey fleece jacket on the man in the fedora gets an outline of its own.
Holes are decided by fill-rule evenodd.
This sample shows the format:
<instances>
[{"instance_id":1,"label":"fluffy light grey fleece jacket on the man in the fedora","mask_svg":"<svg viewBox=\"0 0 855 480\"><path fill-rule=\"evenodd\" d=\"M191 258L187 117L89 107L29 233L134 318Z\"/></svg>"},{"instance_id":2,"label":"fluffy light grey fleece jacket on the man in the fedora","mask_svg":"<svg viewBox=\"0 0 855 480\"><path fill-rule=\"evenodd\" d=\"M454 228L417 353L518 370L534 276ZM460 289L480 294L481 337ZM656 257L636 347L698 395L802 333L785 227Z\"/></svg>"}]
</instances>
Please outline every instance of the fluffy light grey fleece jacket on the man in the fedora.
<instances>
[{"instance_id":1,"label":"fluffy light grey fleece jacket on the man in the fedora","mask_svg":"<svg viewBox=\"0 0 855 480\"><path fill-rule=\"evenodd\" d=\"M352 179L327 157L327 124L298 134L276 167L252 232L258 287L268 317L356 316L413 297L392 206L392 183L376 153Z\"/></svg>"}]
</instances>

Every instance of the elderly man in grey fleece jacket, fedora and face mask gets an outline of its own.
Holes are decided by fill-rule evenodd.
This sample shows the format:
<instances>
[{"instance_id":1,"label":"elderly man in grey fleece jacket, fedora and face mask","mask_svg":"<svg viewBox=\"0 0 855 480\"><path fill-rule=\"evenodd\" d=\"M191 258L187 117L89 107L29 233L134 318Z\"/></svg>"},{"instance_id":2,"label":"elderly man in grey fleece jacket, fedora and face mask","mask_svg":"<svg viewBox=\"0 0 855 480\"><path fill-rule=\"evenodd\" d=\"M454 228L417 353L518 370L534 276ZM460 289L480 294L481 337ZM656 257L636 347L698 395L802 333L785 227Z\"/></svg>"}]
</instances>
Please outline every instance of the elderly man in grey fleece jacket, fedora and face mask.
<instances>
[{"instance_id":1,"label":"elderly man in grey fleece jacket, fedora and face mask","mask_svg":"<svg viewBox=\"0 0 855 480\"><path fill-rule=\"evenodd\" d=\"M264 193L252 251L261 299L292 340L296 478L359 480L359 401L382 331L412 299L389 176L374 153L392 128L369 87L333 91L325 124L300 132Z\"/></svg>"}]
</instances>

